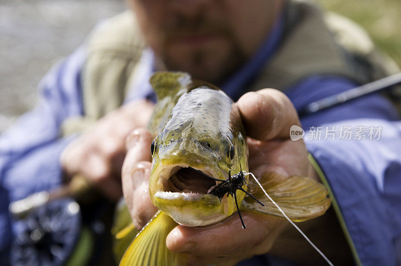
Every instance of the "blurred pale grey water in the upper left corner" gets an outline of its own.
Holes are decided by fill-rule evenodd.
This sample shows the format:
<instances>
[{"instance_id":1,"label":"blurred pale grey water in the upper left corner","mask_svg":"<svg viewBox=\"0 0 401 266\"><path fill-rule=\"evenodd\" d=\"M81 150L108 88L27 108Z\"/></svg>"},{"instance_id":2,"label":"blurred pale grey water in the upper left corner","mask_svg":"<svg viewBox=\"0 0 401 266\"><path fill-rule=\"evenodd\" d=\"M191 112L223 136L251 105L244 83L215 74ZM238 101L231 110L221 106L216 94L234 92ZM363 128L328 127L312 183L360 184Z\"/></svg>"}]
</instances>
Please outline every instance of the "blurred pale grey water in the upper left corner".
<instances>
[{"instance_id":1,"label":"blurred pale grey water in the upper left corner","mask_svg":"<svg viewBox=\"0 0 401 266\"><path fill-rule=\"evenodd\" d=\"M0 132L37 103L37 86L122 0L0 0Z\"/></svg>"}]
</instances>

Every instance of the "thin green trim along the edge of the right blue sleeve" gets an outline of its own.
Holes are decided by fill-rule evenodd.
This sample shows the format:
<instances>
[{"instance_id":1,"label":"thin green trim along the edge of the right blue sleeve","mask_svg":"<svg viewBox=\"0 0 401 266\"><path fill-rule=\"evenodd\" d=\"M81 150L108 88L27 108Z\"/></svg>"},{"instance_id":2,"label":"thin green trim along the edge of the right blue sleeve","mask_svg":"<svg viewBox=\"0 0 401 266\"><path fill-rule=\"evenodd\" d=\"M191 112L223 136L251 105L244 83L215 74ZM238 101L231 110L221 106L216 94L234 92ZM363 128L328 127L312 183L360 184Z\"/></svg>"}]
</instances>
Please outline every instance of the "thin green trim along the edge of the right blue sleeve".
<instances>
[{"instance_id":1,"label":"thin green trim along the edge of the right blue sleeve","mask_svg":"<svg viewBox=\"0 0 401 266\"><path fill-rule=\"evenodd\" d=\"M331 197L331 204L334 208L335 214L337 215L337 219L340 222L340 226L342 228L342 231L344 232L345 238L347 239L348 245L351 248L351 252L354 257L356 265L362 265L362 263L360 262L358 253L356 251L355 245L352 242L351 236L349 235L347 226L345 225L345 221L344 221L344 218L342 217L340 207L338 206L338 203L334 197L333 191L331 190L330 185L327 182L326 176L324 175L322 169L320 168L320 166L317 163L317 161L315 160L315 158L313 158L312 154L310 154L310 153L308 154L308 159L309 159L310 163L312 164L313 168L315 169L316 173L318 174L320 180L327 187L327 189L329 191L329 195Z\"/></svg>"}]
</instances>

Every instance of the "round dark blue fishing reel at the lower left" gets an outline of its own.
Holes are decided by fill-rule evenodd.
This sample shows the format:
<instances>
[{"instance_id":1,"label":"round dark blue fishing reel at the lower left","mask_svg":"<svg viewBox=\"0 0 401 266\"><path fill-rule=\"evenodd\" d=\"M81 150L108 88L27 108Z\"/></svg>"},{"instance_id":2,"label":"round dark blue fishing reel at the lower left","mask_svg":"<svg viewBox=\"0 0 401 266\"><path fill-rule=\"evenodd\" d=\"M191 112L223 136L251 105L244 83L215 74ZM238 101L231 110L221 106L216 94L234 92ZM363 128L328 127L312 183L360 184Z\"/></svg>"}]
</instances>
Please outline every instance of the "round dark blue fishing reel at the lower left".
<instances>
[{"instance_id":1,"label":"round dark blue fishing reel at the lower left","mask_svg":"<svg viewBox=\"0 0 401 266\"><path fill-rule=\"evenodd\" d=\"M87 234L82 233L81 209L72 199L46 204L20 223L11 247L12 265L63 265L76 248L90 248L81 245Z\"/></svg>"}]
</instances>

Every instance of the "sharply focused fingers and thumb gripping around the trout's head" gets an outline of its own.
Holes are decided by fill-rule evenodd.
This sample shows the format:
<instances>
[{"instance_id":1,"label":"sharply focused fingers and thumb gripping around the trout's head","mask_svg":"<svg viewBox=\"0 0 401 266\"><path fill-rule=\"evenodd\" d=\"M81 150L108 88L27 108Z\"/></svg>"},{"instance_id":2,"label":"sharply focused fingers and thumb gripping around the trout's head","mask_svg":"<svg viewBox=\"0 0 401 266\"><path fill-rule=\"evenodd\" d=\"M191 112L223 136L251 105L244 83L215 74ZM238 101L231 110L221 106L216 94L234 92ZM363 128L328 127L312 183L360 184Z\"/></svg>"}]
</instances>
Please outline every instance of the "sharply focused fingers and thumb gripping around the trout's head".
<instances>
[{"instance_id":1,"label":"sharply focused fingers and thumb gripping around the trout's head","mask_svg":"<svg viewBox=\"0 0 401 266\"><path fill-rule=\"evenodd\" d=\"M284 176L313 173L303 140L289 138L290 127L300 126L300 122L295 108L283 93L273 89L247 93L237 105L248 134L250 172L257 177L265 172ZM130 138L123 167L123 190L134 223L140 228L156 211L147 190L151 137L140 130ZM144 153L139 155L141 151ZM178 225L167 236L166 245L171 251L188 253L194 264L234 264L268 252L288 225L285 219L275 216L245 211L242 215L246 229L242 228L237 214L210 226Z\"/></svg>"}]
</instances>

